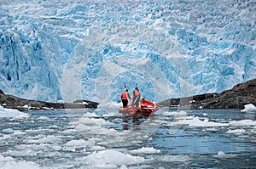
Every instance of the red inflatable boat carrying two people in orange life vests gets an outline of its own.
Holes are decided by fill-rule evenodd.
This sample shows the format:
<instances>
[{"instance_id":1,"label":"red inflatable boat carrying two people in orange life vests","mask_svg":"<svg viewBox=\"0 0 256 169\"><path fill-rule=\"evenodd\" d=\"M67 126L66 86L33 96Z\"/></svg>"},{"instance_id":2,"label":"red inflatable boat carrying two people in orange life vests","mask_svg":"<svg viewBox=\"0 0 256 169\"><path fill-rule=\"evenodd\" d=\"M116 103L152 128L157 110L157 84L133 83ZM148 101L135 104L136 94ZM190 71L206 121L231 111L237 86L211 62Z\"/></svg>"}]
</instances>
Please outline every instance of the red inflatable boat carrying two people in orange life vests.
<instances>
[{"instance_id":1,"label":"red inflatable boat carrying two people in orange life vests","mask_svg":"<svg viewBox=\"0 0 256 169\"><path fill-rule=\"evenodd\" d=\"M146 99L141 99L140 106L136 107L135 104L128 104L126 107L119 109L119 113L123 115L154 115L154 112L159 110L159 107Z\"/></svg>"}]
</instances>

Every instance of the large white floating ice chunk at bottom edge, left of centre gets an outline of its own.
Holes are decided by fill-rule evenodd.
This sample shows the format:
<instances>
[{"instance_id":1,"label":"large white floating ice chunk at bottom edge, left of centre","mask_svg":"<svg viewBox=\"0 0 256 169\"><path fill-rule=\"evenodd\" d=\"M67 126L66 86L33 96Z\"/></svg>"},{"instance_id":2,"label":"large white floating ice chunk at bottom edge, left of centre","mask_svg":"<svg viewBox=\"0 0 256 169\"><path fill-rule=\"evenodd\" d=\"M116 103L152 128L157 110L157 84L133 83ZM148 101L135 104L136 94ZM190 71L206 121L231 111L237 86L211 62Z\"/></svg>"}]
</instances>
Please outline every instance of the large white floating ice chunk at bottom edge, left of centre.
<instances>
[{"instance_id":1,"label":"large white floating ice chunk at bottom edge, left of centre","mask_svg":"<svg viewBox=\"0 0 256 169\"><path fill-rule=\"evenodd\" d=\"M132 156L114 149L93 152L84 157L84 160L94 167L113 166L143 163L145 159L140 156Z\"/></svg>"}]
</instances>

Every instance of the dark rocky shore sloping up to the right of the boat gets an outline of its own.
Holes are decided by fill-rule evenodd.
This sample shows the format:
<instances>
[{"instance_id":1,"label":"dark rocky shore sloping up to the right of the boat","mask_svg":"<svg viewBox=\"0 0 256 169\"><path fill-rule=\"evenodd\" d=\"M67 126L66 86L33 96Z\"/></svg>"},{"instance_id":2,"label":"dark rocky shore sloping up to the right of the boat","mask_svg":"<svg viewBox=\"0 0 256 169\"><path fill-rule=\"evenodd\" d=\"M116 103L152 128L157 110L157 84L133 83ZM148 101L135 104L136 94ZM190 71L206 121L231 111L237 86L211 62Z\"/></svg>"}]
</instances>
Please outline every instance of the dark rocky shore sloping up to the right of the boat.
<instances>
[{"instance_id":1,"label":"dark rocky shore sloping up to the right of the boat","mask_svg":"<svg viewBox=\"0 0 256 169\"><path fill-rule=\"evenodd\" d=\"M223 93L166 99L158 103L160 107L175 109L243 109L246 104L256 105L256 79L237 84Z\"/></svg>"}]
</instances>

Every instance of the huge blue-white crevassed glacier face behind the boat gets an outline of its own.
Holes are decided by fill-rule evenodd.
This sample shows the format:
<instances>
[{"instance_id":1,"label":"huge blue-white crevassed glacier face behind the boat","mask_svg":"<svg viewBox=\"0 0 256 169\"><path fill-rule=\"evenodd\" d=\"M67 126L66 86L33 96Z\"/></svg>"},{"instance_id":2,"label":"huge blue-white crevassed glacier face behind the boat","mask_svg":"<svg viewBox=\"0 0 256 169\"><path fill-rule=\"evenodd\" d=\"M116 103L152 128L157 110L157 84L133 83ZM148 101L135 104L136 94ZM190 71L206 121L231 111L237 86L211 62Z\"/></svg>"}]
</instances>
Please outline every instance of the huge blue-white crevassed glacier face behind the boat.
<instances>
[{"instance_id":1,"label":"huge blue-white crevassed glacier face behind the boat","mask_svg":"<svg viewBox=\"0 0 256 169\"><path fill-rule=\"evenodd\" d=\"M161 101L256 77L256 2L0 3L0 88L22 98Z\"/></svg>"}]
</instances>

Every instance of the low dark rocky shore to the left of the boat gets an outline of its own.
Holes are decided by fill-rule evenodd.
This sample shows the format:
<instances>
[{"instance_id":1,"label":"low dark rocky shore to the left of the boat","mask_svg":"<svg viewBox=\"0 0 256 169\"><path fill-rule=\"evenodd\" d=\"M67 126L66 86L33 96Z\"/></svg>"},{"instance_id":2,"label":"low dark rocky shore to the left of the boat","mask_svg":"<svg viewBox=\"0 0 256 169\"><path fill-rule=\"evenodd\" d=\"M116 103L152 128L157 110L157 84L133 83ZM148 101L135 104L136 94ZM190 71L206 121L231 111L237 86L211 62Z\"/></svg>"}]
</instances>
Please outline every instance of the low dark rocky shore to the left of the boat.
<instances>
[{"instance_id":1,"label":"low dark rocky shore to the left of the boat","mask_svg":"<svg viewBox=\"0 0 256 169\"><path fill-rule=\"evenodd\" d=\"M96 109L98 103L88 100L76 100L73 103L49 103L37 100L21 99L5 94L0 90L0 105L15 110L58 110L58 109Z\"/></svg>"}]
</instances>

